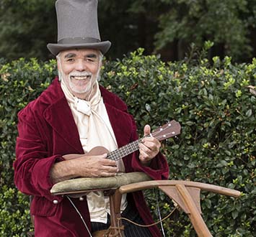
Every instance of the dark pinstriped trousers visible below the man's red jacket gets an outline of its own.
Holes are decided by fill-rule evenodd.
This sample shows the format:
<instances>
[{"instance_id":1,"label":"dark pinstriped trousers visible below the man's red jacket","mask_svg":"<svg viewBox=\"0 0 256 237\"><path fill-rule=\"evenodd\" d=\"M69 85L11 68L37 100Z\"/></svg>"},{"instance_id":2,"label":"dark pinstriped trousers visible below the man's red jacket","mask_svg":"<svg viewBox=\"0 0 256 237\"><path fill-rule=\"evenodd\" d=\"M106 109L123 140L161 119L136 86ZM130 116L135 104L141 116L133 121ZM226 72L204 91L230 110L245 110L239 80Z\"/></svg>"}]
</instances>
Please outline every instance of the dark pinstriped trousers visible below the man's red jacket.
<instances>
[{"instance_id":1,"label":"dark pinstriped trousers visible below the man's red jacket","mask_svg":"<svg viewBox=\"0 0 256 237\"><path fill-rule=\"evenodd\" d=\"M135 223L144 225L144 221L141 219L141 216L138 214L136 208L133 208L132 205L127 205L127 208L121 214L123 218L127 218L132 220ZM127 220L122 220L123 225L125 226L125 237L150 237L151 233L149 228L136 226L133 223L128 222ZM92 233L94 231L101 231L106 230L110 227L110 215L107 214L107 223L100 223L100 222L92 222Z\"/></svg>"}]
</instances>

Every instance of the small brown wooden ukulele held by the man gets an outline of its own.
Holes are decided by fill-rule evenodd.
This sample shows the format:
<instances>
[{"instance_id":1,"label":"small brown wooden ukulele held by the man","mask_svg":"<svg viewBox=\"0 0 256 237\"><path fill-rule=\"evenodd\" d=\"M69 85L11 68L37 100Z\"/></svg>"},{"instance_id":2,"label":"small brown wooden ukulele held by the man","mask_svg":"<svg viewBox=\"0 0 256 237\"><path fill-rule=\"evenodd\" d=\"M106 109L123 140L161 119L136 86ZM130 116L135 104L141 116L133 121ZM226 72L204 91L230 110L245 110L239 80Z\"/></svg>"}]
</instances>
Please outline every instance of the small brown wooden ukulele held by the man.
<instances>
[{"instance_id":1,"label":"small brown wooden ukulele held by the man","mask_svg":"<svg viewBox=\"0 0 256 237\"><path fill-rule=\"evenodd\" d=\"M158 129L155 129L154 131L151 132L151 134L147 136L153 136L159 141L162 141L164 139L169 139L172 136L177 136L178 134L180 134L180 124L179 122L172 120L172 121L169 121L167 124L164 124L164 126L160 126ZM96 155L107 153L107 159L118 161L118 159L122 159L128 154L136 152L138 150L138 144L141 143L142 139L144 138L133 141L112 152L109 152L105 147L94 147L85 155L96 156ZM84 156L84 154L66 154L63 156L63 158L74 159L74 158L79 158L81 156Z\"/></svg>"}]
</instances>

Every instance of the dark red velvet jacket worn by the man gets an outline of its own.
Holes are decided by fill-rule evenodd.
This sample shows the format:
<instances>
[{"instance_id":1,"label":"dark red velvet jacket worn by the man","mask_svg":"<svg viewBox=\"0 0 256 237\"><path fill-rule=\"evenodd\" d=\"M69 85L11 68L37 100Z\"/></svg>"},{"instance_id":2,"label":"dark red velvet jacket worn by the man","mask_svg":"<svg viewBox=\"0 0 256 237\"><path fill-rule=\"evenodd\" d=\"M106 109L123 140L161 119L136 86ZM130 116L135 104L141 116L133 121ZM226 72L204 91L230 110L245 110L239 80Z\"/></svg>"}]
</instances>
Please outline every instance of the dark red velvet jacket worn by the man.
<instances>
[{"instance_id":1,"label":"dark red velvet jacket worn by the man","mask_svg":"<svg viewBox=\"0 0 256 237\"><path fill-rule=\"evenodd\" d=\"M136 124L128 114L125 103L100 87L118 147L138 139ZM33 195L30 211L35 215L35 236L89 236L79 215L67 198L53 196L50 188L50 168L61 162L65 154L83 154L71 110L61 90L58 78L35 101L19 112L16 155L14 162L14 182L21 192ZM167 179L169 167L162 154L151 162L151 167L143 167L138 161L138 152L123 158L125 172L143 171L155 180ZM141 192L128 195L133 198L146 224L152 223L149 208L146 207ZM58 200L58 204L53 204ZM87 201L73 199L90 228ZM160 236L156 227L151 227L153 236Z\"/></svg>"}]
</instances>

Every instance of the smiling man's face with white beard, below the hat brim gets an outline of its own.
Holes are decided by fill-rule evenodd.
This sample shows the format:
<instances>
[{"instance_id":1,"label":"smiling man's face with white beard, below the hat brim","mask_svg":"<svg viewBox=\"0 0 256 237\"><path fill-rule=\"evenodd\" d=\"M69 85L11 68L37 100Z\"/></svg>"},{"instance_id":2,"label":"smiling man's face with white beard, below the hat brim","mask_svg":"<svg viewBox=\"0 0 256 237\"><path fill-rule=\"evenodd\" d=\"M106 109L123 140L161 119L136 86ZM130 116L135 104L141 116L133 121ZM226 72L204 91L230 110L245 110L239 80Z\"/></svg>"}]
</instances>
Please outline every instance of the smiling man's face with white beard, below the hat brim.
<instances>
[{"instance_id":1,"label":"smiling man's face with white beard, below the hat brim","mask_svg":"<svg viewBox=\"0 0 256 237\"><path fill-rule=\"evenodd\" d=\"M70 92L85 99L92 91L100 73L100 52L98 50L66 50L58 58L58 70Z\"/></svg>"}]
</instances>

